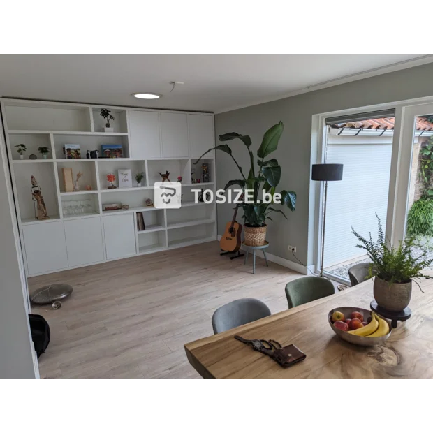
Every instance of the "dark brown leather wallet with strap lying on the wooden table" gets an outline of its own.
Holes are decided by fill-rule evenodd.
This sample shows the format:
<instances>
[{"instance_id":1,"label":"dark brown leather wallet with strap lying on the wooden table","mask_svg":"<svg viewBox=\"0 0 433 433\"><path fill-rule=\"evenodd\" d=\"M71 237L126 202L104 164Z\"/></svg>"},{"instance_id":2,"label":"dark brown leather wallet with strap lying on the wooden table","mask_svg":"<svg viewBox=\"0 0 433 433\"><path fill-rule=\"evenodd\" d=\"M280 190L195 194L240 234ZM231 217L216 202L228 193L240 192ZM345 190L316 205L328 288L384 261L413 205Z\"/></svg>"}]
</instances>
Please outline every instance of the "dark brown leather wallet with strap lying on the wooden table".
<instances>
[{"instance_id":1,"label":"dark brown leather wallet with strap lying on the wooden table","mask_svg":"<svg viewBox=\"0 0 433 433\"><path fill-rule=\"evenodd\" d=\"M235 335L235 339L244 344L250 344L255 351L268 355L274 361L278 362L281 367L290 367L296 362L303 361L307 358L307 355L300 351L294 344L282 347L279 342L274 340L247 340L239 335Z\"/></svg>"}]
</instances>

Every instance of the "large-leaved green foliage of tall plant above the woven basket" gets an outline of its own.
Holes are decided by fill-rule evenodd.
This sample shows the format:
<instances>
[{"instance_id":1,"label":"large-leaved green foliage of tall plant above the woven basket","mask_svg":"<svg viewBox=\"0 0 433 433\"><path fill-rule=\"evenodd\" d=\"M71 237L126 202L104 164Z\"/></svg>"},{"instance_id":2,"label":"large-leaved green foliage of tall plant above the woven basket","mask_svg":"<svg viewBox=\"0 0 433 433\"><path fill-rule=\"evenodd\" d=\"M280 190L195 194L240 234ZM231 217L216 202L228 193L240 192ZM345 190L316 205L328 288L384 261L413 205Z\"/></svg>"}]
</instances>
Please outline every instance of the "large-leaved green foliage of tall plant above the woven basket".
<instances>
[{"instance_id":1,"label":"large-leaved green foliage of tall plant above the woven basket","mask_svg":"<svg viewBox=\"0 0 433 433\"><path fill-rule=\"evenodd\" d=\"M269 214L272 212L279 212L284 215L284 218L287 219L286 214L280 209L276 209L274 206L277 203L274 201L275 189L279 184L279 180L281 179L281 166L279 165L277 159L267 159L265 158L272 154L275 150L277 150L279 139L281 138L281 134L284 131L284 125L282 122L272 126L272 128L268 129L263 135L263 140L257 151L257 165L254 165L254 154L251 151L251 138L249 135L241 135L235 132L229 132L223 135L219 135L219 141L230 141L238 138L247 148L247 152L249 154L250 168L247 177L244 175L244 171L242 167L237 163L235 157L233 156L232 149L226 144L218 145L216 147L212 147L212 149L207 150L200 158L194 163L197 164L200 159L205 156L205 154L212 152L212 150L221 150L221 152L226 152L229 154L233 161L235 162L238 170L240 171L240 175L242 179L234 179L230 180L224 189L230 188L233 185L239 185L242 191L249 190L254 191L253 199L251 200L253 203L245 203L242 205L242 209L244 210L244 221L245 224L249 227L263 227L265 226L265 220L272 218L269 217ZM257 175L256 175L257 173ZM266 191L270 193L272 196L271 203L263 203L261 199L262 194L260 191ZM295 191L286 191L283 189L280 191L281 194L281 205L288 207L291 211L295 210L296 207L296 193Z\"/></svg>"}]
</instances>

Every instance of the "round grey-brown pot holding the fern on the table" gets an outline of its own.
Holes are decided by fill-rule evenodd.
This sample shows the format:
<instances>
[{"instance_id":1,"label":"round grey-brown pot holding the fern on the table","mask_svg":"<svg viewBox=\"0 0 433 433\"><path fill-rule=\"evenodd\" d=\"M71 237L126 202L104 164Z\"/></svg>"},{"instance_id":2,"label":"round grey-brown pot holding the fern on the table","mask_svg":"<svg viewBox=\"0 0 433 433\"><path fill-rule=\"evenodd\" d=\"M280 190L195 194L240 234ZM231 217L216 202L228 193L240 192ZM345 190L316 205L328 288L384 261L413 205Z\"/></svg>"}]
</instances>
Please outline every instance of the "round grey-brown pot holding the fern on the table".
<instances>
[{"instance_id":1,"label":"round grey-brown pot holding the fern on the table","mask_svg":"<svg viewBox=\"0 0 433 433\"><path fill-rule=\"evenodd\" d=\"M379 307L389 311L402 311L411 302L412 281L389 284L388 281L375 277L373 290Z\"/></svg>"}]
</instances>

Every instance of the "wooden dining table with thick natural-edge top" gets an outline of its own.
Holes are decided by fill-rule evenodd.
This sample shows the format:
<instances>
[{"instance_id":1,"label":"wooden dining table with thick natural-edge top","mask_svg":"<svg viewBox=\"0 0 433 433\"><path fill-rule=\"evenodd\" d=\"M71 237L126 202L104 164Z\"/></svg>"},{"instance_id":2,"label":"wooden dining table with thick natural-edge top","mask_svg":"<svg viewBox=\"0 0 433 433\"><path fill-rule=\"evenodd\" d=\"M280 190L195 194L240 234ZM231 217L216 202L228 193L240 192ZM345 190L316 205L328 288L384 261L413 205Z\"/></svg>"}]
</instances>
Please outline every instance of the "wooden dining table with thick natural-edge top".
<instances>
[{"instance_id":1,"label":"wooden dining table with thick natural-edge top","mask_svg":"<svg viewBox=\"0 0 433 433\"><path fill-rule=\"evenodd\" d=\"M432 273L432 272L430 272ZM373 283L287 309L238 328L185 344L191 365L204 379L433 379L433 279L413 284L411 318L399 322L388 340L356 346L330 328L328 312L338 307L369 309ZM281 288L284 290L284 288ZM295 344L307 358L291 367L234 338L274 339Z\"/></svg>"}]
</instances>

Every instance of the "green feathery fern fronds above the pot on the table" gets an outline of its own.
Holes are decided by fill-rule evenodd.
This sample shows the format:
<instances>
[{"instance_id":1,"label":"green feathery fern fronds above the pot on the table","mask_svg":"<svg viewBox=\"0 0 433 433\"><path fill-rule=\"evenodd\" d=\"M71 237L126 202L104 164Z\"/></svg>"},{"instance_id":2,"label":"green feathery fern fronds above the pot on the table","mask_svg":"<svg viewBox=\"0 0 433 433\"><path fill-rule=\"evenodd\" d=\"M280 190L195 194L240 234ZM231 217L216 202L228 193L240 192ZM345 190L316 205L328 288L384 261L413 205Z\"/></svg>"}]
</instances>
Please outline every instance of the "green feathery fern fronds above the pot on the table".
<instances>
[{"instance_id":1,"label":"green feathery fern fronds above the pot on the table","mask_svg":"<svg viewBox=\"0 0 433 433\"><path fill-rule=\"evenodd\" d=\"M433 258L428 258L428 249L417 243L413 235L407 236L406 240L400 242L399 247L390 247L383 234L381 219L377 214L376 218L379 222L377 242L373 242L371 233L369 239L365 239L352 227L353 235L360 242L356 247L365 249L372 260L369 277L377 276L388 281L389 284L409 283L412 279L420 277L430 278L421 272L433 263Z\"/></svg>"}]
</instances>

